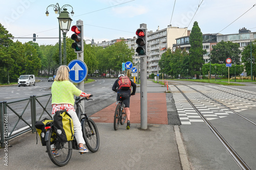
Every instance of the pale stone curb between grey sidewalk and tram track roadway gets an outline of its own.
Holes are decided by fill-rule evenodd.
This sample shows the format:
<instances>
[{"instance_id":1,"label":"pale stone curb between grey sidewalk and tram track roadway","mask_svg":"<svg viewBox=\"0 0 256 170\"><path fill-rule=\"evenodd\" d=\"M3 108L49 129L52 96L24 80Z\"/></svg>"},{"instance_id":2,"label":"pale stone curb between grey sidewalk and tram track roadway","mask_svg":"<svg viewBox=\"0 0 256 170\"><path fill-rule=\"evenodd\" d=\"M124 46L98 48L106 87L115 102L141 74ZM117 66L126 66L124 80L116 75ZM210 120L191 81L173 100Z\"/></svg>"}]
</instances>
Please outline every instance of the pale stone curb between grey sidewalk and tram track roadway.
<instances>
[{"instance_id":1,"label":"pale stone curb between grey sidewalk and tram track roadway","mask_svg":"<svg viewBox=\"0 0 256 170\"><path fill-rule=\"evenodd\" d=\"M183 170L190 170L190 165L188 162L186 150L183 144L183 141L181 139L181 134L180 134L180 128L178 125L174 126L174 131L175 131L175 136L176 136L176 143L178 145L178 151L180 155L180 161L181 161L181 166Z\"/></svg>"}]
</instances>

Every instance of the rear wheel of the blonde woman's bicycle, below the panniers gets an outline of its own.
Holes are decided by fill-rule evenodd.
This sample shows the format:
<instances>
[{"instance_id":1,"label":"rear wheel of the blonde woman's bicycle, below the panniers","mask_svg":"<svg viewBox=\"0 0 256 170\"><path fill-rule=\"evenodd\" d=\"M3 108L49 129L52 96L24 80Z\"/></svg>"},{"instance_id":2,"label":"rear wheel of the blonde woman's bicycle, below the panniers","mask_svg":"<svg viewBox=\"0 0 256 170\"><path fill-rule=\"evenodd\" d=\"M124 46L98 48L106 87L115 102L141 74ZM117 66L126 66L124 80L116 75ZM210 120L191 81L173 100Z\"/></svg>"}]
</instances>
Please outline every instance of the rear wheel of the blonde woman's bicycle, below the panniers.
<instances>
[{"instance_id":1,"label":"rear wheel of the blonde woman's bicycle, below the panniers","mask_svg":"<svg viewBox=\"0 0 256 170\"><path fill-rule=\"evenodd\" d=\"M72 141L57 141L56 134L52 130L50 130L49 135L51 136L51 140L46 142L46 148L51 161L57 166L67 165L72 155ZM58 155L54 155L53 152Z\"/></svg>"}]
</instances>

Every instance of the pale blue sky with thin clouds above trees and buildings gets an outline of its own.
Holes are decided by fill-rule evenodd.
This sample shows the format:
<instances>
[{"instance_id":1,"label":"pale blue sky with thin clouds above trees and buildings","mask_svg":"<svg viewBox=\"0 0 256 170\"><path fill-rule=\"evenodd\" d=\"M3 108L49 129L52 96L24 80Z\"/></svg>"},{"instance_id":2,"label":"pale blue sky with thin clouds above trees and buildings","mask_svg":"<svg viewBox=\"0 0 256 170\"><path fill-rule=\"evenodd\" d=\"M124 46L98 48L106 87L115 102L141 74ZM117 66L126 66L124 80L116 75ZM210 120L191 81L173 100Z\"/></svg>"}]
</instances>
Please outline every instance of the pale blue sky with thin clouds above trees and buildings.
<instances>
[{"instance_id":1,"label":"pale blue sky with thin clouds above trees and buildings","mask_svg":"<svg viewBox=\"0 0 256 170\"><path fill-rule=\"evenodd\" d=\"M46 9L57 3L60 8L67 4L73 7L71 26L81 19L84 40L94 39L95 43L133 38L141 23L146 23L147 31L153 32L168 25L191 30L195 21L203 34L235 34L241 28L256 32L256 7L253 7L256 1L252 0L1 0L0 23L14 37L33 37L35 33L41 38L55 37L38 38L39 45L55 44L59 36L58 14L49 7L46 16ZM66 8L72 11L71 7ZM70 30L67 36L72 34ZM16 40L24 43L32 38Z\"/></svg>"}]
</instances>

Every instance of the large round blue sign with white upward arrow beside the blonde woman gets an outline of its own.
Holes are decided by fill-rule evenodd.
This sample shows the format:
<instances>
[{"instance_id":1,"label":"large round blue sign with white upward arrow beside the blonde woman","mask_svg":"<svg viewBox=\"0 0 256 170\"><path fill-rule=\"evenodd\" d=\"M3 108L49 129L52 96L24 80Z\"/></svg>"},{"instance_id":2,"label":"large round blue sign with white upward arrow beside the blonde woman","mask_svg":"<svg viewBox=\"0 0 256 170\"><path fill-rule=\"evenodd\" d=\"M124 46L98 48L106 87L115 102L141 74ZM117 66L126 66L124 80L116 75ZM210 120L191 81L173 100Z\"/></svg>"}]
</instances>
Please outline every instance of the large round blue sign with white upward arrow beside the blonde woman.
<instances>
[{"instance_id":1,"label":"large round blue sign with white upward arrow beside the blonde woman","mask_svg":"<svg viewBox=\"0 0 256 170\"><path fill-rule=\"evenodd\" d=\"M73 83L81 83L86 79L88 74L88 69L86 63L81 60L72 60L68 65L69 80Z\"/></svg>"}]
</instances>

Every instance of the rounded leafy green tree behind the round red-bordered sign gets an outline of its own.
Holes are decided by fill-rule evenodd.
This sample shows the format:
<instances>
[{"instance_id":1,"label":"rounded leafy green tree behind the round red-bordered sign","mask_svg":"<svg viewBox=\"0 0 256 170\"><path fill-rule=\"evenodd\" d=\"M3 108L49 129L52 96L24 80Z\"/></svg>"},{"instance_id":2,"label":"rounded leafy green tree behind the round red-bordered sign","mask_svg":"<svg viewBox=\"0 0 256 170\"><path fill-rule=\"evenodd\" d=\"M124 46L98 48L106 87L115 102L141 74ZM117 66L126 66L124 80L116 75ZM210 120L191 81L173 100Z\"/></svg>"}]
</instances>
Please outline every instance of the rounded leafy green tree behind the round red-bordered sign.
<instances>
[{"instance_id":1,"label":"rounded leafy green tree behind the round red-bordered sign","mask_svg":"<svg viewBox=\"0 0 256 170\"><path fill-rule=\"evenodd\" d=\"M231 41L221 41L212 48L211 51L211 62L212 63L225 63L227 58L231 58L232 63L240 63L239 50L240 45Z\"/></svg>"}]
</instances>

